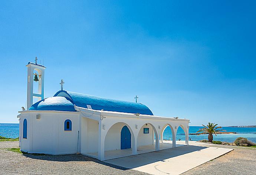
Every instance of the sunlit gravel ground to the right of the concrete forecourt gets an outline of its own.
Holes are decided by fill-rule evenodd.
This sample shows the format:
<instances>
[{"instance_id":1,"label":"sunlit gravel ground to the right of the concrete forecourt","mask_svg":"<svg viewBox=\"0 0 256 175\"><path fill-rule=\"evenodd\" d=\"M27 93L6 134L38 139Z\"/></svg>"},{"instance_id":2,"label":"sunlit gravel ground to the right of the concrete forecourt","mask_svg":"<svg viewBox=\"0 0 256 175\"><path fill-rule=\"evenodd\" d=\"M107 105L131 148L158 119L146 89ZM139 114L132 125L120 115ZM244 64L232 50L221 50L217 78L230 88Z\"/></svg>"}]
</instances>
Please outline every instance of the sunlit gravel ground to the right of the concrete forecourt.
<instances>
[{"instance_id":1,"label":"sunlit gravel ground to the right of the concrete forecourt","mask_svg":"<svg viewBox=\"0 0 256 175\"><path fill-rule=\"evenodd\" d=\"M207 145L234 150L182 175L256 175L256 148L229 145Z\"/></svg>"}]
</instances>

